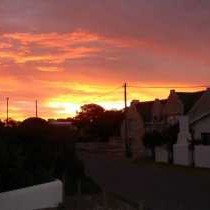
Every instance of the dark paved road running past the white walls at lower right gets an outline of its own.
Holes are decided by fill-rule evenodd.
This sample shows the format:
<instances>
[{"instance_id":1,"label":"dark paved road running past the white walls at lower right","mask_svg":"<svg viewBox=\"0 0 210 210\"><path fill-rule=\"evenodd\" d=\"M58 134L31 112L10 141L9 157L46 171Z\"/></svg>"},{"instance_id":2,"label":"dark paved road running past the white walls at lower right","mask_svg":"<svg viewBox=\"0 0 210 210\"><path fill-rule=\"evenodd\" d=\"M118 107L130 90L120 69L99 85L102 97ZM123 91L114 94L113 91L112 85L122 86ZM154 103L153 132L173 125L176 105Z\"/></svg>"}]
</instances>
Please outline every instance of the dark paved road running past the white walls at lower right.
<instances>
[{"instance_id":1,"label":"dark paved road running past the white walls at lower right","mask_svg":"<svg viewBox=\"0 0 210 210\"><path fill-rule=\"evenodd\" d=\"M134 165L126 160L83 157L87 173L105 191L152 210L210 210L210 172Z\"/></svg>"}]
</instances>

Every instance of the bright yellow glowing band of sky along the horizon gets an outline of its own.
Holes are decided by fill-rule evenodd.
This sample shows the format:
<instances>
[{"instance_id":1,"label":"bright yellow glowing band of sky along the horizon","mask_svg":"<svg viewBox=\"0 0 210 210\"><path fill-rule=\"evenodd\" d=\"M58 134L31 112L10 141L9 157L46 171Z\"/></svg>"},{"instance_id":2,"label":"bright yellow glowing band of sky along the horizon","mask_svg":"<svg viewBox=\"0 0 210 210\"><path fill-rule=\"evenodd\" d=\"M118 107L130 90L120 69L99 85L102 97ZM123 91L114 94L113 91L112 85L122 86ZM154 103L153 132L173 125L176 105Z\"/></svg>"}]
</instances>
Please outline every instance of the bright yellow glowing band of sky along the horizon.
<instances>
[{"instance_id":1,"label":"bright yellow glowing band of sky along the horizon","mask_svg":"<svg viewBox=\"0 0 210 210\"><path fill-rule=\"evenodd\" d=\"M146 85L144 85L146 86ZM151 86L151 85L150 85ZM161 85L159 85L161 86ZM177 87L178 85L176 85ZM183 85L179 85L183 86ZM95 87L95 86L94 86ZM167 86L168 87L168 86ZM132 100L139 101L150 101L159 99L166 99L169 95L168 88L132 88L128 87L128 106ZM173 87L170 85L170 87ZM101 86L98 89L102 88ZM124 98L123 98L123 87L117 87L116 89L107 90L105 92L100 92L97 95L89 97L88 95L83 96L82 99L78 96L60 95L55 98L48 98L43 101L38 100L38 116L44 119L58 119L58 118L68 118L74 117L76 113L80 110L80 107L84 104L95 103L106 110L121 110L124 108ZM91 88L90 88L91 89ZM103 89L103 88L102 88ZM134 91L132 91L134 90ZM204 90L204 88L178 88L176 91L179 92L194 92ZM141 92L141 93L140 93ZM9 118L15 120L24 120L28 117L34 117L36 113L35 101L37 100L13 100L9 98ZM4 101L5 113L1 113L1 120L6 119L6 97ZM1 107L3 106L3 101Z\"/></svg>"}]
</instances>

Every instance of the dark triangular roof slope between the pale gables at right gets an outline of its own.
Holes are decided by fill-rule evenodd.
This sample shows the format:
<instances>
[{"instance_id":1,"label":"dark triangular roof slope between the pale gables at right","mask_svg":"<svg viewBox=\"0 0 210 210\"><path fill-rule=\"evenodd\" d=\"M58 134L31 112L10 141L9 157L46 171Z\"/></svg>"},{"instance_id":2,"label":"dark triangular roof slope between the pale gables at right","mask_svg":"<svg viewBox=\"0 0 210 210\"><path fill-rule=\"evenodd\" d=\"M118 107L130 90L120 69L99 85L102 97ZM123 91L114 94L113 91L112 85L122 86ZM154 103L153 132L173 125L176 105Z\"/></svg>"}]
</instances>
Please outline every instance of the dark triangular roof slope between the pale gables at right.
<instances>
[{"instance_id":1,"label":"dark triangular roof slope between the pale gables at right","mask_svg":"<svg viewBox=\"0 0 210 210\"><path fill-rule=\"evenodd\" d=\"M186 92L176 92L179 99L184 105L184 113L188 113L193 105L199 100L199 98L204 94L205 91L186 93Z\"/></svg>"}]
</instances>

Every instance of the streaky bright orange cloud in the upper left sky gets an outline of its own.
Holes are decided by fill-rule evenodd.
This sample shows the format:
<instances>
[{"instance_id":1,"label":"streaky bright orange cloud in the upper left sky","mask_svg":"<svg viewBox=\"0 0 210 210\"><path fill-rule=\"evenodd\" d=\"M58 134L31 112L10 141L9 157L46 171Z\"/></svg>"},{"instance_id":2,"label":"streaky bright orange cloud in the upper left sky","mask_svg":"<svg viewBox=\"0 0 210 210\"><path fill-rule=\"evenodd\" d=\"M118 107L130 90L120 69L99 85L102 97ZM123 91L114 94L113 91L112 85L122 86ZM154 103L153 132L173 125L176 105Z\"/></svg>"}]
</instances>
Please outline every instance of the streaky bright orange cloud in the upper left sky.
<instances>
[{"instance_id":1,"label":"streaky bright orange cloud in the upper left sky","mask_svg":"<svg viewBox=\"0 0 210 210\"><path fill-rule=\"evenodd\" d=\"M65 60L84 58L103 50L99 47L86 46L88 43L98 41L100 38L95 34L85 32L65 34L14 33L4 34L2 37L6 39L8 43L2 44L0 48L6 46L13 46L15 48L14 41L20 42L21 47L18 50L10 49L9 51L0 51L1 60L11 59L17 64L27 62L60 64ZM13 42L14 44L12 45L11 43ZM30 46L33 44L35 46ZM38 54L34 53L34 48L38 48L40 52ZM43 49L46 51L44 54L42 52Z\"/></svg>"}]
</instances>

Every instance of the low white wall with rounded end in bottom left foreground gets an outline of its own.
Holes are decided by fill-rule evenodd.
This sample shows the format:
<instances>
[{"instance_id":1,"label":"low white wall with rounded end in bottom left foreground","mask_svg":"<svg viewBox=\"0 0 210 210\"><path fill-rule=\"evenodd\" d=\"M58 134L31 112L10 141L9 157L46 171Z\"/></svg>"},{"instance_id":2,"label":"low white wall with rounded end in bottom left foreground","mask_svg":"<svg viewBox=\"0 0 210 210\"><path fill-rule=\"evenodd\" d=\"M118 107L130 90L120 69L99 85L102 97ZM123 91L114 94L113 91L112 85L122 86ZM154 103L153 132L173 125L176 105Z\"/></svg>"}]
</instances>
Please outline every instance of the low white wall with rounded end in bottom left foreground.
<instances>
[{"instance_id":1,"label":"low white wall with rounded end in bottom left foreground","mask_svg":"<svg viewBox=\"0 0 210 210\"><path fill-rule=\"evenodd\" d=\"M0 194L1 210L34 210L62 203L62 182L56 180Z\"/></svg>"}]
</instances>

